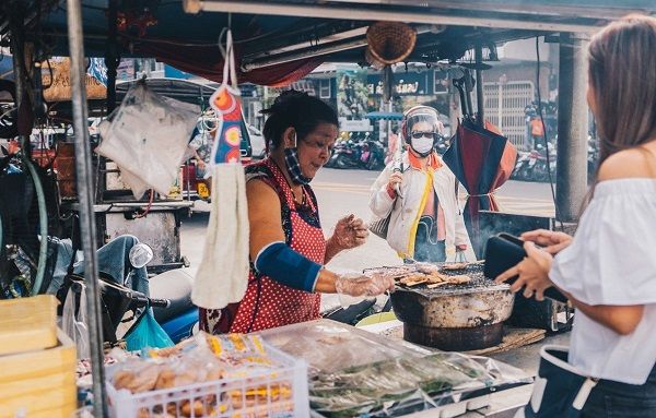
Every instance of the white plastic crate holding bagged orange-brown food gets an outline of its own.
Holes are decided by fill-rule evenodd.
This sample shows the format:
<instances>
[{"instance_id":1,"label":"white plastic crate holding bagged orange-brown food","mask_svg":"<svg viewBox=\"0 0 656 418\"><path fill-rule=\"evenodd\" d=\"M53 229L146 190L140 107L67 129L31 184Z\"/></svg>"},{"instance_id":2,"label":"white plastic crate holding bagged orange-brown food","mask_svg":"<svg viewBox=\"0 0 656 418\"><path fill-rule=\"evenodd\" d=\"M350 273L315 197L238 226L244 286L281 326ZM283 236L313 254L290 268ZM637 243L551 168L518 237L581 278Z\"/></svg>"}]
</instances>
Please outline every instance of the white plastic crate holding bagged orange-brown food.
<instances>
[{"instance_id":1,"label":"white plastic crate holding bagged orange-brown food","mask_svg":"<svg viewBox=\"0 0 656 418\"><path fill-rule=\"evenodd\" d=\"M114 418L303 418L309 417L307 363L265 344L279 365L247 379L222 379L132 394L117 391L107 370L109 415Z\"/></svg>"}]
</instances>

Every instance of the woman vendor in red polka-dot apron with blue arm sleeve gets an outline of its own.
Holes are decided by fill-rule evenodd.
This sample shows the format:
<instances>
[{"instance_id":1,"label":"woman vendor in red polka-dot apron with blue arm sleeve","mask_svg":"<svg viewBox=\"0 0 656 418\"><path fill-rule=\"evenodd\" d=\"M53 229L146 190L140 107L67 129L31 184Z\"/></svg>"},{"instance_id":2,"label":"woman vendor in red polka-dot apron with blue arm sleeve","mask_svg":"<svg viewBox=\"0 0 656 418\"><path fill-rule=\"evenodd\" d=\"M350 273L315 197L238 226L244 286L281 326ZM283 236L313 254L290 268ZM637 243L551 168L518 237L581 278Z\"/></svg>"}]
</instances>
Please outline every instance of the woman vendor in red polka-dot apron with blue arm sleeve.
<instances>
[{"instance_id":1,"label":"woman vendor in red polka-dot apron with blue arm sleeve","mask_svg":"<svg viewBox=\"0 0 656 418\"><path fill-rule=\"evenodd\" d=\"M221 310L200 310L200 327L249 333L319 318L320 294L373 297L394 289L388 277L345 276L324 267L339 252L365 242L353 214L324 237L309 186L328 162L337 135L335 110L305 93L286 91L271 108L263 134L268 157L246 167L250 273L246 295Z\"/></svg>"}]
</instances>

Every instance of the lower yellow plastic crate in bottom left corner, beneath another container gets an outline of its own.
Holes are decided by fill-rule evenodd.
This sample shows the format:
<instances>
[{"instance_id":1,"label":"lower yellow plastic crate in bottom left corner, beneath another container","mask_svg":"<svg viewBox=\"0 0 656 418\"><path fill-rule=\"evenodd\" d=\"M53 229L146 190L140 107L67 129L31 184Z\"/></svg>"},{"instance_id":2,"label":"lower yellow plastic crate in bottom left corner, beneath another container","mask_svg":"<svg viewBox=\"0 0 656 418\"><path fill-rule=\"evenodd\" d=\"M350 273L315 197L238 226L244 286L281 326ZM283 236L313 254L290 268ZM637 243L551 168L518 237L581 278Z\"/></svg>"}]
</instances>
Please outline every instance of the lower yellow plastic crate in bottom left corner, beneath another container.
<instances>
[{"instance_id":1,"label":"lower yellow plastic crate in bottom left corner, beneath another container","mask_svg":"<svg viewBox=\"0 0 656 418\"><path fill-rule=\"evenodd\" d=\"M0 418L70 418L77 408L75 344L0 356Z\"/></svg>"}]
</instances>

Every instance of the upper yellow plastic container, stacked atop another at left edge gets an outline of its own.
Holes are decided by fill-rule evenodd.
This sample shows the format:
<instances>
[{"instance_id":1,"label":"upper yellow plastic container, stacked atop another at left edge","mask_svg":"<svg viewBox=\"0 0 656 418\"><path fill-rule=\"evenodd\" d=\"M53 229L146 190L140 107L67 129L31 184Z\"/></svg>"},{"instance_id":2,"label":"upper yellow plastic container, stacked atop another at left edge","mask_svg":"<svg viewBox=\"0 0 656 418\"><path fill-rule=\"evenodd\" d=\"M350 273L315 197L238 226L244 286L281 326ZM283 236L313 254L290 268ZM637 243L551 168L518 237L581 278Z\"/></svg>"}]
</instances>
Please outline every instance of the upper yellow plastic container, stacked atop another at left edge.
<instances>
[{"instance_id":1,"label":"upper yellow plastic container, stacked atop another at left edge","mask_svg":"<svg viewBox=\"0 0 656 418\"><path fill-rule=\"evenodd\" d=\"M52 295L0 300L0 356L56 345L57 299Z\"/></svg>"}]
</instances>

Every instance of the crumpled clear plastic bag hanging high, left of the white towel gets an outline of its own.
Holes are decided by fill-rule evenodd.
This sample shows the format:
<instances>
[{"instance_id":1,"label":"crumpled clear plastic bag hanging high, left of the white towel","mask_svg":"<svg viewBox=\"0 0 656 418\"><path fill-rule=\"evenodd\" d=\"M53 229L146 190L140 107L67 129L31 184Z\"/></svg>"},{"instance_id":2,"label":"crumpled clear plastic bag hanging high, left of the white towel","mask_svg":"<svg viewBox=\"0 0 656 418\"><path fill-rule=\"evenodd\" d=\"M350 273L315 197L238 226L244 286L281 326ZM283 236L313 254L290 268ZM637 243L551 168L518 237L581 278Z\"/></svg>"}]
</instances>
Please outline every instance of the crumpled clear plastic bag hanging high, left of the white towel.
<instances>
[{"instance_id":1,"label":"crumpled clear plastic bag hanging high, left of the white towel","mask_svg":"<svg viewBox=\"0 0 656 418\"><path fill-rule=\"evenodd\" d=\"M140 199L147 189L166 195L177 178L198 115L140 82L126 94L95 152L116 163Z\"/></svg>"}]
</instances>

